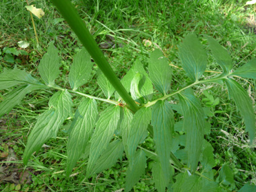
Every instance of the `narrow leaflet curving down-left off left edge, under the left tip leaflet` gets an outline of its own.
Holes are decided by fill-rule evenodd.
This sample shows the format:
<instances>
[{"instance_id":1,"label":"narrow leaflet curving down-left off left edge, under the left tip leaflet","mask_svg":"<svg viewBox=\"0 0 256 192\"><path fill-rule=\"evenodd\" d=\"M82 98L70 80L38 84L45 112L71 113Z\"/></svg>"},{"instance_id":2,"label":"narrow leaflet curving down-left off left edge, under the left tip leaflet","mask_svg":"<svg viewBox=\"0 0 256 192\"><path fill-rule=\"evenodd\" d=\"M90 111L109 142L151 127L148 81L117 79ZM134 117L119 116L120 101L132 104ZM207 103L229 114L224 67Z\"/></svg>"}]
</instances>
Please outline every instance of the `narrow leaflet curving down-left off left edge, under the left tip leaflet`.
<instances>
[{"instance_id":1,"label":"narrow leaflet curving down-left off left edge, under the left tip leaflet","mask_svg":"<svg viewBox=\"0 0 256 192\"><path fill-rule=\"evenodd\" d=\"M27 86L20 86L15 88L12 92L9 92L3 101L0 102L0 117L5 115L5 113L9 113L11 109L19 104L24 96L31 92L32 90L40 89L41 86L34 86L34 85L27 85Z\"/></svg>"}]
</instances>

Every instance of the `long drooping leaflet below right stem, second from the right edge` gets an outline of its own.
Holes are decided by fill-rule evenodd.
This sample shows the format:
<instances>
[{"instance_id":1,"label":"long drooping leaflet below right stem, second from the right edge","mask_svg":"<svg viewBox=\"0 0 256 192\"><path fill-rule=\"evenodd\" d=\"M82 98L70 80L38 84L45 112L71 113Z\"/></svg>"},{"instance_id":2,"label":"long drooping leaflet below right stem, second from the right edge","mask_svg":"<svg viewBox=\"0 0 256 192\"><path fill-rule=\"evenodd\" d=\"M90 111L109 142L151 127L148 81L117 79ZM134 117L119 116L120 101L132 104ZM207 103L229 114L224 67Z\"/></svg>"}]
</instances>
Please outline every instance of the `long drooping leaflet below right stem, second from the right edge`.
<instances>
[{"instance_id":1,"label":"long drooping leaflet below right stem, second from the right edge","mask_svg":"<svg viewBox=\"0 0 256 192\"><path fill-rule=\"evenodd\" d=\"M184 128L186 131L186 147L188 165L192 171L197 169L201 147L203 143L203 130L205 120L200 101L194 96L192 90L179 94L179 101L184 115Z\"/></svg>"}]
</instances>

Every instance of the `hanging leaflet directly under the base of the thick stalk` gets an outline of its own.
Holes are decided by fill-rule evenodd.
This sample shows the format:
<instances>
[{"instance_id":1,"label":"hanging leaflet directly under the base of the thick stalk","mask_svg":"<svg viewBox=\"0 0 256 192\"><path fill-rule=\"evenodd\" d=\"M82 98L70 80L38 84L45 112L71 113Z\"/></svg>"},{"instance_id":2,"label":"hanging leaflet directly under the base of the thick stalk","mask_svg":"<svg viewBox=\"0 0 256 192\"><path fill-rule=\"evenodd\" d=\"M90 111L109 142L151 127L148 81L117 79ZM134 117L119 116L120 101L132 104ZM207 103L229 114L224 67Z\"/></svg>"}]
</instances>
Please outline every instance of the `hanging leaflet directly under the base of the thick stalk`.
<instances>
[{"instance_id":1,"label":"hanging leaflet directly under the base of the thick stalk","mask_svg":"<svg viewBox=\"0 0 256 192\"><path fill-rule=\"evenodd\" d=\"M133 116L127 138L127 157L130 160L132 160L139 143L143 142L146 135L148 135L147 128L148 124L150 124L151 115L151 108L143 107L137 110Z\"/></svg>"}]
</instances>

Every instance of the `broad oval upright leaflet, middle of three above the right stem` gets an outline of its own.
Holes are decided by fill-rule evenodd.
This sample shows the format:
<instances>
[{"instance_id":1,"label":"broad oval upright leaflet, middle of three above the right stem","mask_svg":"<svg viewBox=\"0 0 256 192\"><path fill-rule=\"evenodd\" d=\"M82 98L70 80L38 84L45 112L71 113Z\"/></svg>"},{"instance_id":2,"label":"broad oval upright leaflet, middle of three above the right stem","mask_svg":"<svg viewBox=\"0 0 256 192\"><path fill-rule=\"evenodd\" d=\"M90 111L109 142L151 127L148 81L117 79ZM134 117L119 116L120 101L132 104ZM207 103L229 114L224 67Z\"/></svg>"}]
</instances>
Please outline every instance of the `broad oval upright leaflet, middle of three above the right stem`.
<instances>
[{"instance_id":1,"label":"broad oval upright leaflet, middle of three above the right stem","mask_svg":"<svg viewBox=\"0 0 256 192\"><path fill-rule=\"evenodd\" d=\"M207 65L207 54L195 34L186 36L179 47L182 67L195 82L201 77Z\"/></svg>"}]
</instances>

